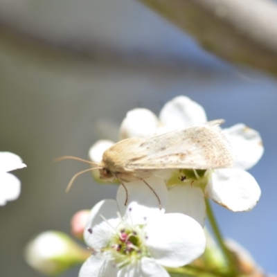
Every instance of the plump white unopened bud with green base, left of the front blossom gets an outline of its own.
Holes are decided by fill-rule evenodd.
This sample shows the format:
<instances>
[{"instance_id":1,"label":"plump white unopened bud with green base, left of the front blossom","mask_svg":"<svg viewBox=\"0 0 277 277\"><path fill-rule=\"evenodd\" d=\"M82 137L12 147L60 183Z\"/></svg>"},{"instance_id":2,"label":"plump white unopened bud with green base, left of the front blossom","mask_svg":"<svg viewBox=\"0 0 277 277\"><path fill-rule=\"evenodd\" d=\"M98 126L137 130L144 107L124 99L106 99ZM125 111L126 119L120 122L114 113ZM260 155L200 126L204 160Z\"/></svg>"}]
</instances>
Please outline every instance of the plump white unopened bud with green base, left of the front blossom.
<instances>
[{"instance_id":1,"label":"plump white unopened bud with green base, left of the front blossom","mask_svg":"<svg viewBox=\"0 0 277 277\"><path fill-rule=\"evenodd\" d=\"M28 242L24 258L30 267L46 275L57 275L80 265L90 255L87 249L76 244L68 235L46 231Z\"/></svg>"}]
</instances>

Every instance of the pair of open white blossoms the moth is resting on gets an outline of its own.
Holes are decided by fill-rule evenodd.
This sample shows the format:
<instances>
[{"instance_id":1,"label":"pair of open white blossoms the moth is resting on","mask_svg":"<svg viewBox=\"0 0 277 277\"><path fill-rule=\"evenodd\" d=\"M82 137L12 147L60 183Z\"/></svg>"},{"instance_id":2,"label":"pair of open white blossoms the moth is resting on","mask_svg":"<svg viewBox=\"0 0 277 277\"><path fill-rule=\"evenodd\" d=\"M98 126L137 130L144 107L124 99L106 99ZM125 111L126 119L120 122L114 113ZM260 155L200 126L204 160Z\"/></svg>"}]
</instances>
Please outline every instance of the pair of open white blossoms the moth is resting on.
<instances>
[{"instance_id":1,"label":"pair of open white blossoms the moth is resting on","mask_svg":"<svg viewBox=\"0 0 277 277\"><path fill-rule=\"evenodd\" d=\"M159 118L148 109L129 111L120 127L120 140L206 122L200 105L179 96L166 103ZM205 197L231 211L249 211L256 205L260 187L245 170L262 156L260 135L243 124L222 132L233 150L233 168L162 170L166 174L147 180L154 193L141 180L125 182L118 188L117 202L104 200L93 207L84 229L92 255L80 277L168 276L161 265L181 267L204 252ZM89 150L91 161L100 163L111 145L114 142L96 142ZM99 179L97 173L94 176Z\"/></svg>"}]
</instances>

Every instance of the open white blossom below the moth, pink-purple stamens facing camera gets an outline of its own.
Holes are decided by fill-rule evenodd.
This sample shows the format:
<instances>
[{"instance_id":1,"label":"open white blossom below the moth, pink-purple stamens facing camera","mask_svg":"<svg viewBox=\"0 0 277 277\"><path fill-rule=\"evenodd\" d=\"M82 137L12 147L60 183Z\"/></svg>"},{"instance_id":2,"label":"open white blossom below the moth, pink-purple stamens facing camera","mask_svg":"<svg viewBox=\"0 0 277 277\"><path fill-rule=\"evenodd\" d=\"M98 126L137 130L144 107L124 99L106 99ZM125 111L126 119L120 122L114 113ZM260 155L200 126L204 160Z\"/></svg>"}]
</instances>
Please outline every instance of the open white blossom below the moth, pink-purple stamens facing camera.
<instances>
[{"instance_id":1,"label":"open white blossom below the moth, pink-purple stamens facing camera","mask_svg":"<svg viewBox=\"0 0 277 277\"><path fill-rule=\"evenodd\" d=\"M92 255L79 277L169 277L162 266L181 267L202 255L202 226L181 213L164 214L157 202L150 206L129 202L120 215L114 200L96 204L84 231Z\"/></svg>"}]
</instances>

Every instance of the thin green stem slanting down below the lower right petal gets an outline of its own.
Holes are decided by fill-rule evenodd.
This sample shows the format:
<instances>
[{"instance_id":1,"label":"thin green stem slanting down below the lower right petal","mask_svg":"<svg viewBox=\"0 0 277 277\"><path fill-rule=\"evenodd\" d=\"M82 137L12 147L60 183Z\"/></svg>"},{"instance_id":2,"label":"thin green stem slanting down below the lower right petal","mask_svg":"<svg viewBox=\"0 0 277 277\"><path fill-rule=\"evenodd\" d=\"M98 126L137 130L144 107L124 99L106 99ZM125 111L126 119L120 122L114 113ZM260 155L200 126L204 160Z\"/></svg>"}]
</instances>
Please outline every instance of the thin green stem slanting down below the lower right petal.
<instances>
[{"instance_id":1,"label":"thin green stem slanting down below the lower right petal","mask_svg":"<svg viewBox=\"0 0 277 277\"><path fill-rule=\"evenodd\" d=\"M217 240L217 243L220 246L220 249L221 249L224 259L226 261L226 265L229 267L230 276L237 276L238 270L235 266L233 256L232 256L231 252L229 251L229 249L227 249L226 245L224 244L224 240L223 240L222 234L220 232L220 229L218 227L218 224L215 220L215 215L213 213L211 204L208 201L208 199L206 199L206 198L205 198L205 202L206 202L206 211L207 211L207 215L208 215L208 220L210 221L211 228L213 229L213 233L215 235L215 239Z\"/></svg>"}]
</instances>

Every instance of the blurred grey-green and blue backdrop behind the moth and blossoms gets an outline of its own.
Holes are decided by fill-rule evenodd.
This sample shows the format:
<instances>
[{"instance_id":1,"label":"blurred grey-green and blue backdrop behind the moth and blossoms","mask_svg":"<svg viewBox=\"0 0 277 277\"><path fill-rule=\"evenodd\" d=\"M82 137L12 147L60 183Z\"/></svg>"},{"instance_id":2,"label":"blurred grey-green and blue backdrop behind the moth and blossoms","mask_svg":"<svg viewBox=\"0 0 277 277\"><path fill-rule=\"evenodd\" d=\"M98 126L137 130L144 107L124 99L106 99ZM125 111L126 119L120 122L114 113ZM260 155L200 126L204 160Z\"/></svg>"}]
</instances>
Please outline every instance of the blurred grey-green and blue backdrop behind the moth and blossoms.
<instances>
[{"instance_id":1,"label":"blurred grey-green and blue backdrop behind the moth and blossoms","mask_svg":"<svg viewBox=\"0 0 277 277\"><path fill-rule=\"evenodd\" d=\"M87 159L97 139L114 139L126 112L159 114L171 98L199 102L224 127L245 123L262 135L265 154L250 170L262 189L249 213L213 205L222 232L277 272L277 82L202 50L193 38L130 0L0 0L0 151L19 154L21 195L0 208L0 276L42 276L22 256L45 230L69 233L71 216L116 186L96 184L87 168L54 163L65 154ZM64 277L78 275L78 268Z\"/></svg>"}]
</instances>

